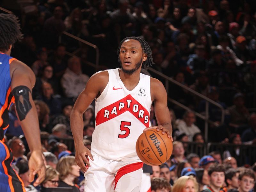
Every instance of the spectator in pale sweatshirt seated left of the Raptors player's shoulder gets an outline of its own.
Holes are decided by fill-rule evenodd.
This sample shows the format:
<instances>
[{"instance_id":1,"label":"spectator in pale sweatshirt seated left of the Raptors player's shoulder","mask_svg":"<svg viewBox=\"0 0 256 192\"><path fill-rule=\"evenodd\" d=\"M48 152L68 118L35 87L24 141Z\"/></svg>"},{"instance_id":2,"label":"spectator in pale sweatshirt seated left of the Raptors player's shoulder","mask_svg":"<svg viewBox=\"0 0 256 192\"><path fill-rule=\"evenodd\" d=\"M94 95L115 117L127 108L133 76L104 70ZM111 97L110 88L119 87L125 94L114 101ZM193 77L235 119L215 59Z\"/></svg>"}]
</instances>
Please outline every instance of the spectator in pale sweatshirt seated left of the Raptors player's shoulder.
<instances>
[{"instance_id":1,"label":"spectator in pale sweatshirt seated left of the Raptors player's shoulder","mask_svg":"<svg viewBox=\"0 0 256 192\"><path fill-rule=\"evenodd\" d=\"M76 98L83 91L89 77L82 74L81 61L78 57L68 60L68 68L61 78L61 86L68 98Z\"/></svg>"}]
</instances>

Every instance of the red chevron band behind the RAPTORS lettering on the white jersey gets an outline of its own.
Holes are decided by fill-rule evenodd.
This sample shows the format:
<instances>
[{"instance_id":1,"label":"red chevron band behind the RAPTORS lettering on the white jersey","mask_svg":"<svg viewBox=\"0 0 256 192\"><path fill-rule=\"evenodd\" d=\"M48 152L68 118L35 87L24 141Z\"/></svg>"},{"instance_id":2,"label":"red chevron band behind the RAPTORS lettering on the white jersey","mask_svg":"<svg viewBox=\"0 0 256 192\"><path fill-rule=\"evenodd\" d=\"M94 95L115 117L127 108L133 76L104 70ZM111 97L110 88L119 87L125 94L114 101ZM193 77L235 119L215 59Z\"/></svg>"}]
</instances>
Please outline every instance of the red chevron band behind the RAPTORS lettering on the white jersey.
<instances>
[{"instance_id":1,"label":"red chevron band behind the RAPTORS lettering on the white jersey","mask_svg":"<svg viewBox=\"0 0 256 192\"><path fill-rule=\"evenodd\" d=\"M127 102L127 100L131 100L131 102ZM119 104L124 103L124 108L121 108L119 110ZM130 103L130 106L128 108L128 103ZM138 105L137 112L133 111L133 106ZM116 107L116 114L111 114L112 110ZM108 110L108 118L104 117L105 110ZM140 110L144 111L143 117L139 117ZM116 101L115 103L112 103L111 105L108 105L107 107L104 107L98 111L96 115L96 126L99 124L102 124L110 119L115 118L116 116L119 116L123 114L124 112L129 111L132 115L134 115L142 124L144 124L146 127L149 127L149 113L146 108L144 108L136 99L132 97L131 94L127 95L121 100ZM148 122L144 123L145 121L145 116L148 116Z\"/></svg>"}]
</instances>

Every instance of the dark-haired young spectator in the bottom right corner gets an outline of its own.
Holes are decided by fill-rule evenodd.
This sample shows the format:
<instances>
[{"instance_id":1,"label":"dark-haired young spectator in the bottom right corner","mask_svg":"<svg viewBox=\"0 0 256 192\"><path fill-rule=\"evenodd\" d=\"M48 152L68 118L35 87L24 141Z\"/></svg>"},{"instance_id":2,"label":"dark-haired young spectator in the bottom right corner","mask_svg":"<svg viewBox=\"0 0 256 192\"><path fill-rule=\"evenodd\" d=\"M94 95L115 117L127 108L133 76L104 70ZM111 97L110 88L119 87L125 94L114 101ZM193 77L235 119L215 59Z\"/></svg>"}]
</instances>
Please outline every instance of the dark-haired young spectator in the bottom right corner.
<instances>
[{"instance_id":1,"label":"dark-haired young spectator in the bottom right corner","mask_svg":"<svg viewBox=\"0 0 256 192\"><path fill-rule=\"evenodd\" d=\"M255 174L251 169L244 169L238 176L238 188L231 189L228 192L249 192L253 189Z\"/></svg>"}]
</instances>

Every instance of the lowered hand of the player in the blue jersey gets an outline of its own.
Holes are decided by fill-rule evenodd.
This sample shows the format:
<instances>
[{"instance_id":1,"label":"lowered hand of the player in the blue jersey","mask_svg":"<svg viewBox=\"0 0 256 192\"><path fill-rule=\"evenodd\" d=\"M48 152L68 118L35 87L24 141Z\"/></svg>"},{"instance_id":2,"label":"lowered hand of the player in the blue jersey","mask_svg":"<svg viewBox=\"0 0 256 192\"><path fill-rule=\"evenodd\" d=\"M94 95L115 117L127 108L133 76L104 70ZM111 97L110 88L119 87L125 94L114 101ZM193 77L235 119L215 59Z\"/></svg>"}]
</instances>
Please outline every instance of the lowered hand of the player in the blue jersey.
<instances>
[{"instance_id":1,"label":"lowered hand of the player in the blue jersey","mask_svg":"<svg viewBox=\"0 0 256 192\"><path fill-rule=\"evenodd\" d=\"M34 186L36 187L44 180L45 176L45 166L44 160L42 157L42 151L32 151L31 156L28 161L29 167L29 182L32 182L35 178L35 175L38 174L38 178L34 182Z\"/></svg>"}]
</instances>

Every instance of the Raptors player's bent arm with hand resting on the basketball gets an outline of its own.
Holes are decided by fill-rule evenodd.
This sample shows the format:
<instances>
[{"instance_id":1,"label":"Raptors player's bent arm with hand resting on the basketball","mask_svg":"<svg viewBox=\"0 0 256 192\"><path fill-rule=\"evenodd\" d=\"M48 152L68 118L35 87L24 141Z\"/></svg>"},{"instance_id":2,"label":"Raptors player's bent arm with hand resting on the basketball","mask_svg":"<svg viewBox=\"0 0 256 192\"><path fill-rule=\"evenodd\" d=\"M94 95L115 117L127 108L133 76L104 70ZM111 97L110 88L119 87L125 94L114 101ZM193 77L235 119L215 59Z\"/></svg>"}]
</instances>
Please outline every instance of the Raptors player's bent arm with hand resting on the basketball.
<instances>
[{"instance_id":1,"label":"Raptors player's bent arm with hand resting on the basketball","mask_svg":"<svg viewBox=\"0 0 256 192\"><path fill-rule=\"evenodd\" d=\"M155 115L157 120L157 126L148 127L148 129L156 128L157 131L162 130L162 133L167 133L169 138L172 138L172 124L169 109L167 107L167 93L164 85L157 79L150 79L150 92L151 100L155 101Z\"/></svg>"}]
</instances>

